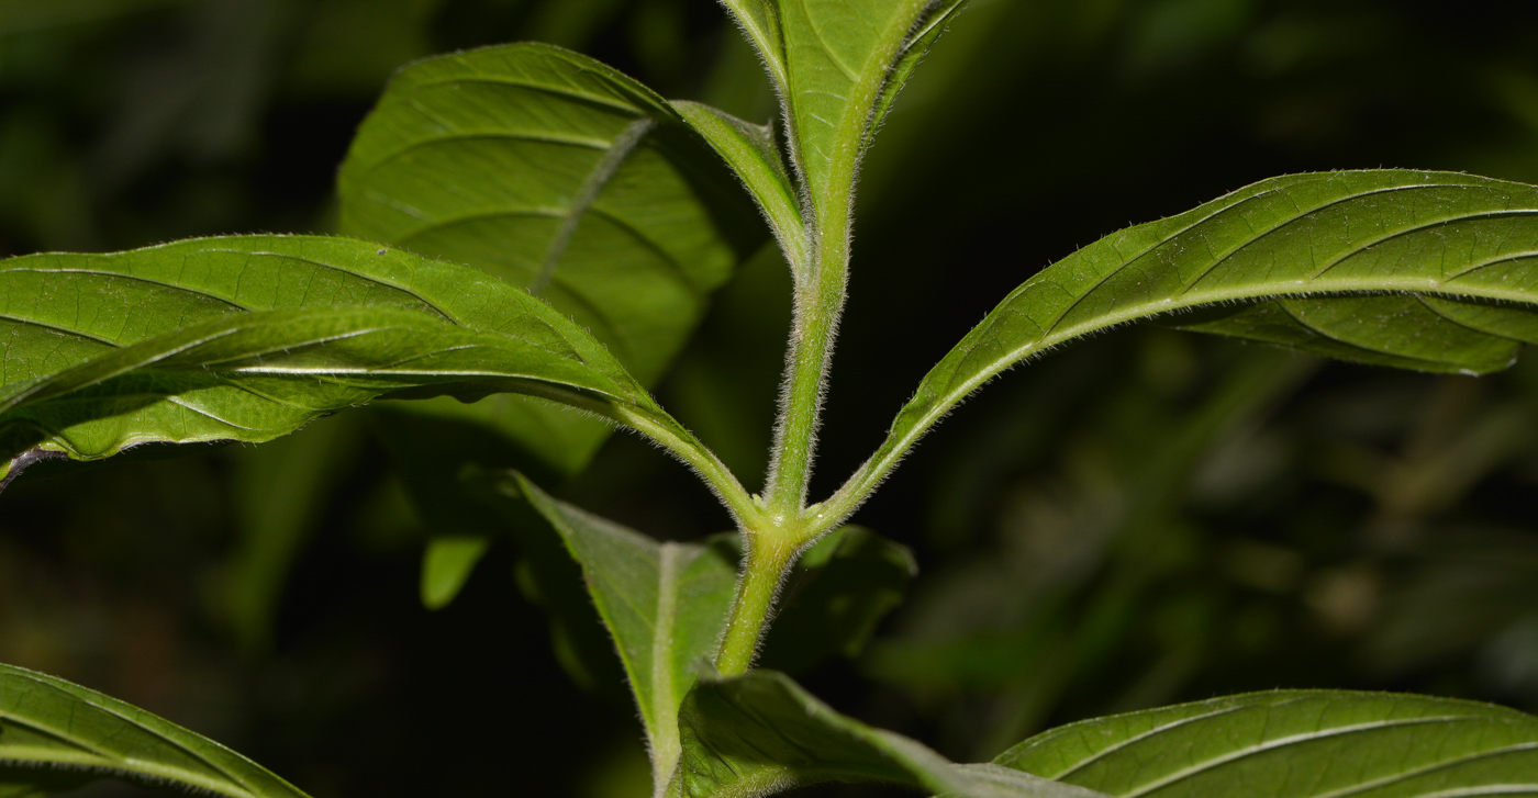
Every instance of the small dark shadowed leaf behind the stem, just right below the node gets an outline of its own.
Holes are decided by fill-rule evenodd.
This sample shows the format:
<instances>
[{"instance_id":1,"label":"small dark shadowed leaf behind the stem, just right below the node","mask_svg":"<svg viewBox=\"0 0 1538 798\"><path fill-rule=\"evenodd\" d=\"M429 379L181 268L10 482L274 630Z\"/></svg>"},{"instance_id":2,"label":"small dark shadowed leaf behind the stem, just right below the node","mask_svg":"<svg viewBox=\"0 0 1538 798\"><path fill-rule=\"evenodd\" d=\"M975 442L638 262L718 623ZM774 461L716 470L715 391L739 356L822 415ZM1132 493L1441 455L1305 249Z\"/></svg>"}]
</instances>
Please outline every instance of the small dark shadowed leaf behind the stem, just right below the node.
<instances>
[{"instance_id":1,"label":"small dark shadowed leaf behind the stem, just right below the node","mask_svg":"<svg viewBox=\"0 0 1538 798\"><path fill-rule=\"evenodd\" d=\"M869 529L835 529L797 561L763 644L763 666L787 673L864 650L918 574L914 554Z\"/></svg>"}]
</instances>

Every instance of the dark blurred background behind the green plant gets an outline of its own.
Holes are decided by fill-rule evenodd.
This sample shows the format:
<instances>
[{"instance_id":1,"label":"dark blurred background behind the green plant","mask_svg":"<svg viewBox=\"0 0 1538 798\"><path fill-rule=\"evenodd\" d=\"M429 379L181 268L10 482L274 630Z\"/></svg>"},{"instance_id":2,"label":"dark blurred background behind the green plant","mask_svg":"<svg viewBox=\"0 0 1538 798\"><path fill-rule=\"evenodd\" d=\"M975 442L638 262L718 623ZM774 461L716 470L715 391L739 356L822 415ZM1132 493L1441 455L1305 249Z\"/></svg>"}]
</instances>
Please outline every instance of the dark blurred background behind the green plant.
<instances>
[{"instance_id":1,"label":"dark blurred background behind the green plant","mask_svg":"<svg viewBox=\"0 0 1538 798\"><path fill-rule=\"evenodd\" d=\"M335 168L397 66L523 38L772 112L709 0L0 0L0 255L328 232ZM815 492L1038 268L1264 177L1377 166L1538 183L1538 5L974 0L866 163ZM755 258L660 389L751 486L787 288ZM300 434L351 455L315 464L325 489L275 560L249 543L263 449L18 481L0 661L317 798L646 795L634 709L563 672L514 546L421 607L423 524L357 415ZM561 492L658 537L727 524L628 437ZM910 601L803 681L961 760L1252 689L1538 710L1535 498L1535 363L1426 377L1123 329L1006 375L903 464L857 520L915 549Z\"/></svg>"}]
</instances>

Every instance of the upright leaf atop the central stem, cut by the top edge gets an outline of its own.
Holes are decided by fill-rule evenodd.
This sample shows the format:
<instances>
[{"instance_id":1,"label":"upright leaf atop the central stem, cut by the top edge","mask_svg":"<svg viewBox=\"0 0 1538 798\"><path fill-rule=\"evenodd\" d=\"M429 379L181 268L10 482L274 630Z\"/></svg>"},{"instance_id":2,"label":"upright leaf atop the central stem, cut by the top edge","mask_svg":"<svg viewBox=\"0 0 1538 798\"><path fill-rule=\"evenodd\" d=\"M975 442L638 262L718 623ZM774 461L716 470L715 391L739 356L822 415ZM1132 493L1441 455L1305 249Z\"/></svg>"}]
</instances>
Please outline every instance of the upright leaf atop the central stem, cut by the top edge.
<instances>
[{"instance_id":1,"label":"upright leaf atop the central stem, cut by the top edge","mask_svg":"<svg viewBox=\"0 0 1538 798\"><path fill-rule=\"evenodd\" d=\"M871 134L961 0L726 0L780 89L820 218L847 215Z\"/></svg>"}]
</instances>

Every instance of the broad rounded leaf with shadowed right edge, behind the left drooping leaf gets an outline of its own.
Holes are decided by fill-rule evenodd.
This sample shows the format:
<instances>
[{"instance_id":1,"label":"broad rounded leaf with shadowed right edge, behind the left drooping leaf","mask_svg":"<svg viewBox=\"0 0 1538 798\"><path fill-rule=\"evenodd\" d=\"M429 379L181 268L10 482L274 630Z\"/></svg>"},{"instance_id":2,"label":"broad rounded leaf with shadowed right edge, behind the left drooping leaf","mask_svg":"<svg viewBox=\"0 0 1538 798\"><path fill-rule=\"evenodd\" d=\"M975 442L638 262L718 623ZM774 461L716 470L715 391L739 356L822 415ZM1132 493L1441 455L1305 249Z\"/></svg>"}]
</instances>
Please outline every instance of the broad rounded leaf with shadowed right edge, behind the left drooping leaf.
<instances>
[{"instance_id":1,"label":"broad rounded leaf with shadowed right edge, behind the left drooping leaf","mask_svg":"<svg viewBox=\"0 0 1538 798\"><path fill-rule=\"evenodd\" d=\"M760 188L761 172L744 180ZM340 226L528 288L651 386L709 294L763 240L737 183L651 89L521 43L428 58L391 81L341 166ZM483 424L568 475L609 434L526 400L431 411Z\"/></svg>"}]
</instances>

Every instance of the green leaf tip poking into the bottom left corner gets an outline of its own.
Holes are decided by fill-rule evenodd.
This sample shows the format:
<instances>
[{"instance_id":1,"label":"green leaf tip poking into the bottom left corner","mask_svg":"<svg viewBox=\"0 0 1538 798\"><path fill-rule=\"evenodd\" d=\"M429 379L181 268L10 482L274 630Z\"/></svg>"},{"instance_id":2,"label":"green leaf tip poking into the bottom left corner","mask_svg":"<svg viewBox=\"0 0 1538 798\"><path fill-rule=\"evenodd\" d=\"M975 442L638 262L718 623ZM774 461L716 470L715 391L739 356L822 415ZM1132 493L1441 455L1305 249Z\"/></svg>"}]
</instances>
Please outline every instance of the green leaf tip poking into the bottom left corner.
<instances>
[{"instance_id":1,"label":"green leaf tip poking into the bottom left corner","mask_svg":"<svg viewBox=\"0 0 1538 798\"><path fill-rule=\"evenodd\" d=\"M109 775L229 798L303 798L245 756L138 707L0 664L0 795L43 795Z\"/></svg>"}]
</instances>

